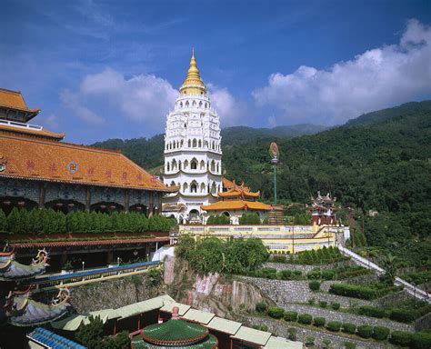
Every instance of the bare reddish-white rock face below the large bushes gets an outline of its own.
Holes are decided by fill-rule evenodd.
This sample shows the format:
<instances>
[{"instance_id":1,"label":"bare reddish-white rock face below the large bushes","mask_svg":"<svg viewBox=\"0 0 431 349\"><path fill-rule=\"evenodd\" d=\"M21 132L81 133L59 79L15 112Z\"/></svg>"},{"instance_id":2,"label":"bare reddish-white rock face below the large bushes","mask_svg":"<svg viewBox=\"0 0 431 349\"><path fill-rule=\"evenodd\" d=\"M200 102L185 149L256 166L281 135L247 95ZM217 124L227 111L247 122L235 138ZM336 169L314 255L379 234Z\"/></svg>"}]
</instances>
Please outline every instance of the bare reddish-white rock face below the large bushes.
<instances>
[{"instance_id":1,"label":"bare reddish-white rock face below the large bushes","mask_svg":"<svg viewBox=\"0 0 431 349\"><path fill-rule=\"evenodd\" d=\"M253 284L226 275L199 276L189 268L187 262L175 258L165 261L165 284L167 294L177 302L225 318L233 318L246 310L255 310L258 302L274 304Z\"/></svg>"}]
</instances>

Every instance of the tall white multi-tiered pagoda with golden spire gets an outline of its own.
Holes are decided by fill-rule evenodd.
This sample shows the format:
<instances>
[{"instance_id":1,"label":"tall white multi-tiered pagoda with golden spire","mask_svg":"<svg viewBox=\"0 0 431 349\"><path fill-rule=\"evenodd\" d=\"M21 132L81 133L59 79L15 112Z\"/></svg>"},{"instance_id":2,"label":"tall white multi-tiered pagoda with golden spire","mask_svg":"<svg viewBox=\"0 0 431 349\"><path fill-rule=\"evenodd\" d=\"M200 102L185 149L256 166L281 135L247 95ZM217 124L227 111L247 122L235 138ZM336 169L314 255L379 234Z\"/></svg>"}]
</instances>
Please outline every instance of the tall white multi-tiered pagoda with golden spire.
<instances>
[{"instance_id":1,"label":"tall white multi-tiered pagoda with golden spire","mask_svg":"<svg viewBox=\"0 0 431 349\"><path fill-rule=\"evenodd\" d=\"M190 66L165 128L164 182L179 188L163 199L163 212L178 222L202 222L201 205L223 191L220 121L206 94L192 53Z\"/></svg>"}]
</instances>

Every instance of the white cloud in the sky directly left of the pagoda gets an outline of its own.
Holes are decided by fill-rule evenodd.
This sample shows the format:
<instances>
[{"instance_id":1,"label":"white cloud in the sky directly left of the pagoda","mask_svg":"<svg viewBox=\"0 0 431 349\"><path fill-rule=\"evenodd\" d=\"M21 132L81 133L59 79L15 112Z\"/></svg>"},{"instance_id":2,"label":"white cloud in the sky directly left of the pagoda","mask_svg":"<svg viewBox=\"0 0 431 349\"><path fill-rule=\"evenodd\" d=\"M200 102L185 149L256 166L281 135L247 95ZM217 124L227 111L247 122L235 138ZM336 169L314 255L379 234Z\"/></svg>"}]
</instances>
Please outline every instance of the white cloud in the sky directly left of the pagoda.
<instances>
[{"instance_id":1,"label":"white cloud in the sky directly left of the pagoda","mask_svg":"<svg viewBox=\"0 0 431 349\"><path fill-rule=\"evenodd\" d=\"M159 132L165 125L165 115L177 95L169 82L155 75L126 79L107 68L102 73L86 75L76 92L65 90L61 99L88 124L118 123L127 118L145 124L143 134L152 135L151 132Z\"/></svg>"}]
</instances>

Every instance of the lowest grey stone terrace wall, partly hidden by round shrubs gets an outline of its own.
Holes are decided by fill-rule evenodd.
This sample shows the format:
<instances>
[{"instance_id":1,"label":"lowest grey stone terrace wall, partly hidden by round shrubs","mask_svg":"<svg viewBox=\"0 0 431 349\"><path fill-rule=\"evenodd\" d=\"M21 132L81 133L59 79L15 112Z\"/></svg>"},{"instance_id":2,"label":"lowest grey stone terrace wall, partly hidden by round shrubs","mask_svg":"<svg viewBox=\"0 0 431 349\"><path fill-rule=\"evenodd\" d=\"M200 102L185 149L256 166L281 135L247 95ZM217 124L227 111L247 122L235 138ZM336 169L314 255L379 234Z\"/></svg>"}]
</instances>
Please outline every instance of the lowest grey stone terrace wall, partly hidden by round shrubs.
<instances>
[{"instance_id":1,"label":"lowest grey stone terrace wall, partly hidden by round shrubs","mask_svg":"<svg viewBox=\"0 0 431 349\"><path fill-rule=\"evenodd\" d=\"M322 341L324 339L330 339L331 340L331 344L336 348L336 349L342 349L345 347L345 343L346 342L352 342L355 343L357 345L357 348L366 348L366 349L384 349L384 348L392 348L392 345L386 345L386 344L380 344L377 342L366 342L366 341L361 341L360 339L356 339L356 336L345 336L345 335L341 335L341 334L334 334L334 333L327 333L324 331L318 331L318 330L314 330L314 329L309 329L309 328L303 328L300 326L297 326L295 324L288 324L284 321L277 321L277 320L272 320L272 319L265 319L265 318L261 318L261 317L257 317L257 316L251 316L251 315L247 315L245 317L245 324L249 325L249 326L253 326L253 325L261 325L261 324L266 324L266 326L268 326L268 331L273 333L273 334L277 334L280 335L282 337L287 337L287 329L288 328L296 328L297 330L297 337L296 340L303 342L306 338L307 335L313 335L316 337L316 341L315 344L317 345L321 345ZM355 339L353 339L355 338Z\"/></svg>"}]
</instances>

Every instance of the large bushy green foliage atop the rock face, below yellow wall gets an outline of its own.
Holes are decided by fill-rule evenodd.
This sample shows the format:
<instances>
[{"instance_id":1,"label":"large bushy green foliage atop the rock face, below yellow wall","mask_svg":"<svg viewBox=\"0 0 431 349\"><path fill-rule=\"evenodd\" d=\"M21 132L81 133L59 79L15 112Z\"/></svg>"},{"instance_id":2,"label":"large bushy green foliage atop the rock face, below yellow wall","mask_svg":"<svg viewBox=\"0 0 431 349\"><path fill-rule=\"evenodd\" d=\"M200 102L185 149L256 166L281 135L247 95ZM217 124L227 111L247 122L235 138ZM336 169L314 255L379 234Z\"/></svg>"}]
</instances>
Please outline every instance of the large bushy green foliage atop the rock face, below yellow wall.
<instances>
[{"instance_id":1,"label":"large bushy green foliage atop the rock face, below yellow wall","mask_svg":"<svg viewBox=\"0 0 431 349\"><path fill-rule=\"evenodd\" d=\"M269 254L260 239L208 237L198 242L182 236L175 254L185 259L198 274L246 274L266 262Z\"/></svg>"}]
</instances>

